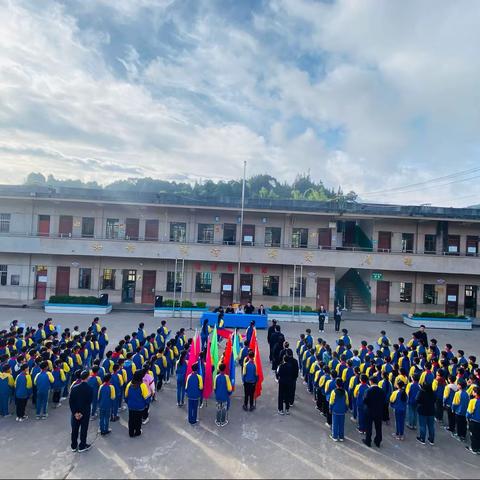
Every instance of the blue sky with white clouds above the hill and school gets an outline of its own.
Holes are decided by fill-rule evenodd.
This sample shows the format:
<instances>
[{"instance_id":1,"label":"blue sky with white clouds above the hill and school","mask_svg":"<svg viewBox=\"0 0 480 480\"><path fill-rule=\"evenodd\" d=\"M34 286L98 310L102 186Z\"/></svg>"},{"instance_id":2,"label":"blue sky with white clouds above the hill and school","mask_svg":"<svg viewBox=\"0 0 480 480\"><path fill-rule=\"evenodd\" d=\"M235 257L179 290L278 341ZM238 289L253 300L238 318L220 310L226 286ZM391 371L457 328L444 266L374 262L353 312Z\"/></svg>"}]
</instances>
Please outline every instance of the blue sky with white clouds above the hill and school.
<instances>
[{"instance_id":1,"label":"blue sky with white clouds above the hill and school","mask_svg":"<svg viewBox=\"0 0 480 480\"><path fill-rule=\"evenodd\" d=\"M0 183L310 173L480 203L480 2L0 0Z\"/></svg>"}]
</instances>

